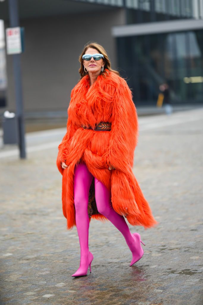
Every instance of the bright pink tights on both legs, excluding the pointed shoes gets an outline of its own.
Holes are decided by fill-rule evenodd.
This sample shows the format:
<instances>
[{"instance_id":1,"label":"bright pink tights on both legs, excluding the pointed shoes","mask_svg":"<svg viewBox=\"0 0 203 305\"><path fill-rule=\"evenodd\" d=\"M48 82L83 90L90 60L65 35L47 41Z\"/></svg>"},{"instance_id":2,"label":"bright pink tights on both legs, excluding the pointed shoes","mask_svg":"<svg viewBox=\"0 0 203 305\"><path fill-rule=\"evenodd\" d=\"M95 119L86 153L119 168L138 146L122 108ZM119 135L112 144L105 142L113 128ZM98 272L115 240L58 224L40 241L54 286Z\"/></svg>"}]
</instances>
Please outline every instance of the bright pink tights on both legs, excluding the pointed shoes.
<instances>
[{"instance_id":1,"label":"bright pink tights on both legs, excluding the pointed shoes","mask_svg":"<svg viewBox=\"0 0 203 305\"><path fill-rule=\"evenodd\" d=\"M80 243L80 253L87 255L89 252L89 216L88 199L89 188L93 175L89 172L85 163L75 166L74 172L74 203L75 221ZM123 234L130 250L135 250L135 239L131 234L123 216L116 213L110 200L110 191L101 181L95 178L95 199L98 211L107 217L108 220Z\"/></svg>"}]
</instances>

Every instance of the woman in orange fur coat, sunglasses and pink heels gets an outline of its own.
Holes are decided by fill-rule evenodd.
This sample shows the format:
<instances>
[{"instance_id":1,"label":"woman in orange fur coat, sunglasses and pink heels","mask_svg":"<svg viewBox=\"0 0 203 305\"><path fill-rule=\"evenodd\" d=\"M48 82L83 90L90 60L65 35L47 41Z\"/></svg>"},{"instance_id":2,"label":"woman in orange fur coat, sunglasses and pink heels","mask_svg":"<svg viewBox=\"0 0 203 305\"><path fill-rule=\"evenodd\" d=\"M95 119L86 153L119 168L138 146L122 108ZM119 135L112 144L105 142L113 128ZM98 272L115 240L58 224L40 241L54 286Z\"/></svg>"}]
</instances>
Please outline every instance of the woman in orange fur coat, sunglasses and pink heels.
<instances>
[{"instance_id":1,"label":"woman in orange fur coat, sunglasses and pink heels","mask_svg":"<svg viewBox=\"0 0 203 305\"><path fill-rule=\"evenodd\" d=\"M132 252L130 266L144 254L132 225L157 224L132 172L138 119L126 81L111 69L104 48L86 45L79 57L81 79L71 91L67 133L58 146L62 207L67 228L76 225L80 266L72 276L91 272L88 236L91 218L108 219Z\"/></svg>"}]
</instances>

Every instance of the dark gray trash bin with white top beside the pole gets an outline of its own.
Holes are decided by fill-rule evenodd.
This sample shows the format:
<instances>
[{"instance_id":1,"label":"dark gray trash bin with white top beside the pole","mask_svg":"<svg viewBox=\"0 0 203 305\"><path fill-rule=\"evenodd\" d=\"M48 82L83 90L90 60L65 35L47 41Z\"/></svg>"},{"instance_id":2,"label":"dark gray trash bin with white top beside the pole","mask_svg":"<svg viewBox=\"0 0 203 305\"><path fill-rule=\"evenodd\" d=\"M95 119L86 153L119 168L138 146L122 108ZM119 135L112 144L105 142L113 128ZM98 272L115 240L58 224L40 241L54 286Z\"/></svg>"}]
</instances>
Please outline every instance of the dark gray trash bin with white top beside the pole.
<instances>
[{"instance_id":1,"label":"dark gray trash bin with white top beside the pole","mask_svg":"<svg viewBox=\"0 0 203 305\"><path fill-rule=\"evenodd\" d=\"M18 125L15 113L6 110L3 114L3 142L4 144L18 143Z\"/></svg>"}]
</instances>

